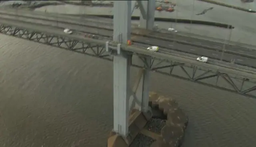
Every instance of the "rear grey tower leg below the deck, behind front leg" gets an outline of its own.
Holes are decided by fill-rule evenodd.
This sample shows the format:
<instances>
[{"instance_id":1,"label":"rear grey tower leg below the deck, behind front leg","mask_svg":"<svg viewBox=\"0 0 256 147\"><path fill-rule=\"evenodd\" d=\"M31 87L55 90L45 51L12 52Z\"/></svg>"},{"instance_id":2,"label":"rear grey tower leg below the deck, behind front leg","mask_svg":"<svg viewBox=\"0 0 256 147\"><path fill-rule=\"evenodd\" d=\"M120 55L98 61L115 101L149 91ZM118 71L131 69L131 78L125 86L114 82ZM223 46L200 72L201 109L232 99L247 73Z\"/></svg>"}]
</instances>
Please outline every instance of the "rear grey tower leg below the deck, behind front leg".
<instances>
[{"instance_id":1,"label":"rear grey tower leg below the deck, behind front leg","mask_svg":"<svg viewBox=\"0 0 256 147\"><path fill-rule=\"evenodd\" d=\"M138 65L143 66L144 62L141 61L138 57L134 57L136 63ZM144 58L145 63L150 66L151 64L151 58L146 57ZM150 86L150 69L146 66L144 66L144 69L142 70L142 74L140 74L140 82L138 84L138 89L136 90L136 97L137 101L140 102L140 104L136 104L135 107L143 112L148 112L148 100L149 100L149 86ZM141 72L141 71L139 71Z\"/></svg>"}]
</instances>

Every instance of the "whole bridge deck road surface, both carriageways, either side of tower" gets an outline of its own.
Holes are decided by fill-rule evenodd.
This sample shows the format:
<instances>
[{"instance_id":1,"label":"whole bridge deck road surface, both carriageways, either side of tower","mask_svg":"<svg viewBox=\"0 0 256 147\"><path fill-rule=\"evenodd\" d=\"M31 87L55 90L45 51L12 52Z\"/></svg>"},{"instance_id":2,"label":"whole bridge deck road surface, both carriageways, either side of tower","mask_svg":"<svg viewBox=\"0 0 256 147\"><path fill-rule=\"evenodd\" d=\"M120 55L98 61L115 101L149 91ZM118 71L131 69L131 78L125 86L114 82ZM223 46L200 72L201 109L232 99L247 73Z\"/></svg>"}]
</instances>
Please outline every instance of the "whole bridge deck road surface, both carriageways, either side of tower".
<instances>
[{"instance_id":1,"label":"whole bridge deck road surface, both carriageways, either side of tower","mask_svg":"<svg viewBox=\"0 0 256 147\"><path fill-rule=\"evenodd\" d=\"M77 22L74 20L67 20L64 18L58 18L58 24L56 24L56 16L55 18L49 18L48 16L40 16L40 19L35 18L32 14L23 14L21 16L29 17L29 18L16 18L15 16L3 16L5 18L11 19L20 19L26 22L34 22L38 24L46 24L46 25L58 25L59 27L70 27L75 28L75 30L80 31L81 33L92 33L97 35L102 35L105 37L112 37L112 25L111 24L101 24L98 22ZM48 19L48 20L46 20ZM71 24L70 24L71 23ZM91 27L94 26L94 27ZM105 29L106 28L106 29ZM133 33L141 34L140 29L133 29ZM142 33L143 34L143 33ZM141 35L142 35L141 34ZM150 34L151 37L147 37ZM175 34L167 34L167 33L157 33L157 32L149 32L146 33L147 36L134 36L133 41L148 44L148 45L158 45L165 49L180 51L184 53L190 53L198 56L207 56L211 59L221 59L222 56L222 47L221 43L215 43L212 41L204 41L201 39L195 39L192 37L182 37ZM158 38L152 38L152 36L156 36ZM175 39L174 39L175 38ZM172 40L181 41L181 43L177 43ZM197 41L197 42L196 42ZM192 45L190 45L192 44ZM193 45L194 44L194 45ZM223 61L231 62L234 61L236 64L244 65L248 67L254 67L254 59L256 57L256 52L251 49L245 49L242 47L234 46L234 45L226 45L225 50L233 52L233 53L225 53L223 57ZM226 52L226 51L224 51Z\"/></svg>"}]
</instances>

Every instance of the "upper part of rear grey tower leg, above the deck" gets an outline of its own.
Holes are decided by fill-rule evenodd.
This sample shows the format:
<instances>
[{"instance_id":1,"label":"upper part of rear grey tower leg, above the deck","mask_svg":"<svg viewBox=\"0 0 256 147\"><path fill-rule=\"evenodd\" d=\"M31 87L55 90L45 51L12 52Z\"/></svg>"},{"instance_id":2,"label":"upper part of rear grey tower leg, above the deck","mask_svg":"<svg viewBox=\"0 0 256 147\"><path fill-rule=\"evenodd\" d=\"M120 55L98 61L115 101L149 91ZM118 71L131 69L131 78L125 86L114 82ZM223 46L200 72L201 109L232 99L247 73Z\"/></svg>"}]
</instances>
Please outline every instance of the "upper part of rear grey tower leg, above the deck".
<instances>
[{"instance_id":1,"label":"upper part of rear grey tower leg, above the deck","mask_svg":"<svg viewBox=\"0 0 256 147\"><path fill-rule=\"evenodd\" d=\"M152 29L154 27L156 0L137 0L140 7L140 27Z\"/></svg>"}]
</instances>

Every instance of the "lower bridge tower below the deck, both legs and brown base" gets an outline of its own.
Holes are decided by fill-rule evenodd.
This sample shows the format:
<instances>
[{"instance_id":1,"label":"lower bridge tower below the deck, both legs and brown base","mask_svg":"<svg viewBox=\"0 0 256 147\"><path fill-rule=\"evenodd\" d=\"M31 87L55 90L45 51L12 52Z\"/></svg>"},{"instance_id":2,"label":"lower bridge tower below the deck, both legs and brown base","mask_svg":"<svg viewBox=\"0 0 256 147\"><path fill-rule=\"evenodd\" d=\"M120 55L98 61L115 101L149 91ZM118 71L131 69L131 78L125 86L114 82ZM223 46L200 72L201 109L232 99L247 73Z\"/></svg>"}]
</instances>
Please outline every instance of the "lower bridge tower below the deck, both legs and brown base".
<instances>
[{"instance_id":1,"label":"lower bridge tower below the deck, both legs and brown base","mask_svg":"<svg viewBox=\"0 0 256 147\"><path fill-rule=\"evenodd\" d=\"M108 138L108 147L128 147L152 118L148 111L150 59L130 58L122 50L118 52L114 56L114 129ZM139 70L132 90L129 87L131 59L145 65Z\"/></svg>"}]
</instances>

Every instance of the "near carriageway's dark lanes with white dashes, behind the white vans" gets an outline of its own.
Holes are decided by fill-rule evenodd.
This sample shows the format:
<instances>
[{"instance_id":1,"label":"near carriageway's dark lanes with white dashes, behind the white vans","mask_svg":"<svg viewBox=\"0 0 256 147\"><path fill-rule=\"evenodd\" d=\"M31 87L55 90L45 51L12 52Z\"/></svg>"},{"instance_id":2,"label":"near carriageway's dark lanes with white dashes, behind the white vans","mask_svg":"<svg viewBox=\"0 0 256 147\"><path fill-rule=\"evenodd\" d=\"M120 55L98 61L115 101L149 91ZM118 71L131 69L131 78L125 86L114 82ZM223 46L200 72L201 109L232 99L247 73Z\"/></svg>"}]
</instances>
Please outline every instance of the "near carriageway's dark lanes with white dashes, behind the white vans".
<instances>
[{"instance_id":1,"label":"near carriageway's dark lanes with white dashes, behind the white vans","mask_svg":"<svg viewBox=\"0 0 256 147\"><path fill-rule=\"evenodd\" d=\"M10 18L10 17L7 16L6 18ZM20 18L20 19L22 19L22 18ZM26 21L26 22L34 22L34 23L38 23L38 24L45 24L45 25L52 25L52 26L55 25L56 26L56 22L34 20L34 18L33 19L23 18L22 20ZM100 35L107 36L107 37L112 36L112 31L106 30L106 29L99 30L99 29L95 29L95 28L82 27L80 25L70 25L70 24L65 24L65 23L60 23L60 22L58 23L58 27L61 27L61 29L65 28L65 27L76 28L76 30L75 30L76 33L79 33L80 35L84 35L85 32L92 33L92 34L93 33L97 34L97 32L100 32ZM148 40L148 39L150 39L150 40ZM111 40L111 39L108 39L108 40ZM169 49L169 52L172 52L172 53L173 53L173 51L170 50L170 47L173 50L180 51L182 53L192 53L193 52L192 53L193 55L204 55L204 56L210 57L211 59L218 59L218 57L221 56L221 53L218 51L210 51L210 50L206 50L204 48L192 47L189 45L182 45L179 43L172 44L169 41L162 41L159 39L152 39L152 38L148 38L148 37L136 36L136 39L134 39L134 41L143 43L143 44L159 45L160 47ZM161 45L159 42L161 43ZM190 49L188 50L188 48L190 48ZM181 53L178 53L178 54L181 54ZM248 67L254 67L254 65L251 64L252 59L248 59L248 58L241 57L241 56L234 56L231 54L225 54L224 61L228 62L228 61L231 61L231 59L237 59L237 63L239 65L247 65Z\"/></svg>"}]
</instances>

